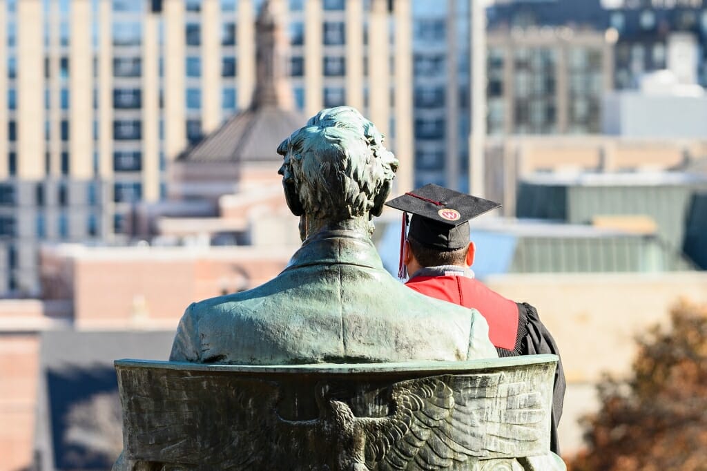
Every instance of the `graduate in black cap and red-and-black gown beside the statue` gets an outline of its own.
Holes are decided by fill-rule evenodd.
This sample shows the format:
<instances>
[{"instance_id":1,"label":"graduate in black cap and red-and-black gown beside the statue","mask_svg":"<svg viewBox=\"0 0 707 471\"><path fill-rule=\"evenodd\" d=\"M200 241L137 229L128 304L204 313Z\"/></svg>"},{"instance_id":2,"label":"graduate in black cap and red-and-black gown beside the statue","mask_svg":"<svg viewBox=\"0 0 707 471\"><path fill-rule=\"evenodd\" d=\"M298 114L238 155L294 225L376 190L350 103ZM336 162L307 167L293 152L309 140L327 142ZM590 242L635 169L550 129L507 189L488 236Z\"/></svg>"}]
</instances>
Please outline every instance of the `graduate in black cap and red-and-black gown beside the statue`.
<instances>
[{"instance_id":1,"label":"graduate in black cap and red-and-black gown beside the statue","mask_svg":"<svg viewBox=\"0 0 707 471\"><path fill-rule=\"evenodd\" d=\"M403 211L398 275L404 279L407 271L406 285L410 289L478 309L489 323L489 338L498 356L559 356L557 344L533 306L516 303L492 291L474 278L470 268L476 248L470 242L469 219L501 204L439 185L425 185L386 204ZM565 376L560 360L555 373L550 447L558 455L557 424L564 394Z\"/></svg>"}]
</instances>

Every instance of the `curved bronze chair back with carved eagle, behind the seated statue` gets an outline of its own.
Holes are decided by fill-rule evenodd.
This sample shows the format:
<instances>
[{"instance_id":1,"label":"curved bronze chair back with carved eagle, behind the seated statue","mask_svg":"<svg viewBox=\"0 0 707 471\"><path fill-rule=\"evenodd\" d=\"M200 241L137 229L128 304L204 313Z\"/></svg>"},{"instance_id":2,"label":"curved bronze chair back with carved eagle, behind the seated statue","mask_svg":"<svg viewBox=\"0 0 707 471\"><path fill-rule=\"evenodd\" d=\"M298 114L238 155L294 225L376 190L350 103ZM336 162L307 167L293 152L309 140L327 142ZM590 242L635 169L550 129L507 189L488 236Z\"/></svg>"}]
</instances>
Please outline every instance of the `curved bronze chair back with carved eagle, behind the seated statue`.
<instances>
[{"instance_id":1,"label":"curved bronze chair back with carved eagle, behind the seated statue","mask_svg":"<svg viewBox=\"0 0 707 471\"><path fill-rule=\"evenodd\" d=\"M549 453L556 361L117 361L115 469L561 471Z\"/></svg>"}]
</instances>

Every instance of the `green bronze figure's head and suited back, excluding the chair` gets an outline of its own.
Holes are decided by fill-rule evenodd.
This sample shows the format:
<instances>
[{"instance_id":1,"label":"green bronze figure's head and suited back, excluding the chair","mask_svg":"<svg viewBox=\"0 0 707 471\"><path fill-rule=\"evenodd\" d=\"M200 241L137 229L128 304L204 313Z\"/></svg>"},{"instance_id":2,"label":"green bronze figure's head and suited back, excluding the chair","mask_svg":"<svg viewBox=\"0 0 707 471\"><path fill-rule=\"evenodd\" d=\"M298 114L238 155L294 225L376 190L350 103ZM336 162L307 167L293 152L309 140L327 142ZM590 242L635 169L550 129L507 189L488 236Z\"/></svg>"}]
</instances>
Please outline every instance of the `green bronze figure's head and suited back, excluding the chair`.
<instances>
[{"instance_id":1,"label":"green bronze figure's head and suited back, excluding the chair","mask_svg":"<svg viewBox=\"0 0 707 471\"><path fill-rule=\"evenodd\" d=\"M474 309L407 289L382 267L370 235L397 170L373 123L322 110L280 144L288 207L302 247L250 291L192 303L171 361L286 365L459 361L496 357Z\"/></svg>"}]
</instances>

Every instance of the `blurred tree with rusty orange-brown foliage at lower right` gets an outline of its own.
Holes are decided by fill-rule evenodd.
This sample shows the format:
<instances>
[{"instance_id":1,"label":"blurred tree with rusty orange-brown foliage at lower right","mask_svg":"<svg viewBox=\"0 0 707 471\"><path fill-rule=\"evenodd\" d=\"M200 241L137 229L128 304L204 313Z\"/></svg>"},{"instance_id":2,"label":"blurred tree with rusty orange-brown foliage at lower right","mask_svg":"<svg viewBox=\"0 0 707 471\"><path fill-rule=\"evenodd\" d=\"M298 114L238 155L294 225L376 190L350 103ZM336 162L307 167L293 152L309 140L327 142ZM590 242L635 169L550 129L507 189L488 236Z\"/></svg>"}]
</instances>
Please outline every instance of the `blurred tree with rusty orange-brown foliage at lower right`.
<instances>
[{"instance_id":1,"label":"blurred tree with rusty orange-brown foliage at lower right","mask_svg":"<svg viewBox=\"0 0 707 471\"><path fill-rule=\"evenodd\" d=\"M707 470L707 305L680 303L670 319L637 339L629 381L602 381L569 470Z\"/></svg>"}]
</instances>

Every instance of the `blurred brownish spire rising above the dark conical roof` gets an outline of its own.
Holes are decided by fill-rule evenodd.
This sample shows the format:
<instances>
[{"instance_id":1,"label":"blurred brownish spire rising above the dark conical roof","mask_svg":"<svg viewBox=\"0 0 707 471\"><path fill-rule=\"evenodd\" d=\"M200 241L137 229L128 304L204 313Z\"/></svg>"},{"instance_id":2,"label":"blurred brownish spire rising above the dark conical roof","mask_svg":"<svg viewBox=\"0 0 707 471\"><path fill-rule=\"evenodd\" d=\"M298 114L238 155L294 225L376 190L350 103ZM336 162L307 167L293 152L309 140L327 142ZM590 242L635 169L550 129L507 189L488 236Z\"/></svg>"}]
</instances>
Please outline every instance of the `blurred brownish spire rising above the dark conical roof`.
<instances>
[{"instance_id":1,"label":"blurred brownish spire rising above the dark conical roof","mask_svg":"<svg viewBox=\"0 0 707 471\"><path fill-rule=\"evenodd\" d=\"M282 0L266 0L255 22L256 86L251 109L294 107L288 80L288 40L281 22L282 4Z\"/></svg>"}]
</instances>

